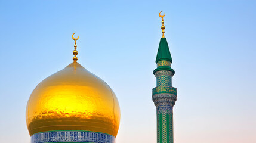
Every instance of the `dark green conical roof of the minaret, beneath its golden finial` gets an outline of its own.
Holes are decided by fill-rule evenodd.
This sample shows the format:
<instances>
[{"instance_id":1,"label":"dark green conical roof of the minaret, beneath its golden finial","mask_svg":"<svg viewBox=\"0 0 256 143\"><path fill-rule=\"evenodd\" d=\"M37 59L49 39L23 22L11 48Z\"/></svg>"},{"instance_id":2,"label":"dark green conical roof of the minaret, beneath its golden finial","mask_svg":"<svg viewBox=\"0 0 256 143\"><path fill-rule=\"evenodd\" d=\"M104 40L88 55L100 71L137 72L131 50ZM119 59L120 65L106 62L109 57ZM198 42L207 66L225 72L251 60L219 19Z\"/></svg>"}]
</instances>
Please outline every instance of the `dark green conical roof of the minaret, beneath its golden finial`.
<instances>
[{"instance_id":1,"label":"dark green conical roof of the minaret, beneath its golden finial","mask_svg":"<svg viewBox=\"0 0 256 143\"><path fill-rule=\"evenodd\" d=\"M158 55L156 55L156 63L162 60L170 61L172 63L171 53L166 38L161 38L158 47Z\"/></svg>"}]
</instances>

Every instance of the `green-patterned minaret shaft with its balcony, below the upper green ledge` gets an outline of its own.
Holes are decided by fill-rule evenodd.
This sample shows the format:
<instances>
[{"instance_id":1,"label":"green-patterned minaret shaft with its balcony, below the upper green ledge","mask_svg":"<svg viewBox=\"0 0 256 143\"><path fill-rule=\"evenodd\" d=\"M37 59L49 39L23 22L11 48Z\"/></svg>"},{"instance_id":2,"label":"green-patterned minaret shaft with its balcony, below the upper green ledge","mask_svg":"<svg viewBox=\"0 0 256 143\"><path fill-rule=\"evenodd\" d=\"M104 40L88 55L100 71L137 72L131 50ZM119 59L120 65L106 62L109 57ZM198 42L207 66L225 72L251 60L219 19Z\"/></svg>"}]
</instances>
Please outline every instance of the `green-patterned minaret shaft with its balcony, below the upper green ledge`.
<instances>
[{"instance_id":1,"label":"green-patterned minaret shaft with its balcony, below the upper green ledge","mask_svg":"<svg viewBox=\"0 0 256 143\"><path fill-rule=\"evenodd\" d=\"M158 68L161 68L159 66ZM173 73L169 70L159 70L155 73L157 86L153 88L153 102L156 105L158 143L173 143L173 112L177 100L177 89L172 87Z\"/></svg>"}]
</instances>

